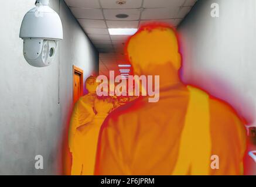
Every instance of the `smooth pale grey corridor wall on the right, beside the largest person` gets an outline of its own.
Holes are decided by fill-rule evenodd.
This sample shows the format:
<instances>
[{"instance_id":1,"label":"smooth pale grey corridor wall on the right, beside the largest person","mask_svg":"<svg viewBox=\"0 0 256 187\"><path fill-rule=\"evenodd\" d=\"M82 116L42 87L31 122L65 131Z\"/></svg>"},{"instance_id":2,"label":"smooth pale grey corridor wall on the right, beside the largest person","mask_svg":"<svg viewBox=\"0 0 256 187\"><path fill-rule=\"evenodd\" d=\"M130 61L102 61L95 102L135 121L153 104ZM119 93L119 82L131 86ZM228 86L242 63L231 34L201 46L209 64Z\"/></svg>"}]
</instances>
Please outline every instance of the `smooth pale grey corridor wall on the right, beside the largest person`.
<instances>
[{"instance_id":1,"label":"smooth pale grey corridor wall on the right, beside the largest person","mask_svg":"<svg viewBox=\"0 0 256 187\"><path fill-rule=\"evenodd\" d=\"M213 3L219 18L210 15ZM256 1L199 0L179 33L186 82L231 103L255 124Z\"/></svg>"}]
</instances>

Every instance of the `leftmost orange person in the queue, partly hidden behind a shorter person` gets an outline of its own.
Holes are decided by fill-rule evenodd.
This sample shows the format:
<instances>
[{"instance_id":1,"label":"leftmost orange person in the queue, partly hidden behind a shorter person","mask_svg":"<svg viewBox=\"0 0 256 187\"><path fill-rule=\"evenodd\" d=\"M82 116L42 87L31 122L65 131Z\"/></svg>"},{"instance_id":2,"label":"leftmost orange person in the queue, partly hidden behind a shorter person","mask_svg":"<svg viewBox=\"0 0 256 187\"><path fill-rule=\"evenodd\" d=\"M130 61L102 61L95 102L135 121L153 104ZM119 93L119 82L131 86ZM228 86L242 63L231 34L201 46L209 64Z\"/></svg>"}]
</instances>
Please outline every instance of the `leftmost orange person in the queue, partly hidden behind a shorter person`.
<instances>
[{"instance_id":1,"label":"leftmost orange person in the queue, partly hidden behind a shorter person","mask_svg":"<svg viewBox=\"0 0 256 187\"><path fill-rule=\"evenodd\" d=\"M91 75L86 79L87 95L82 96L73 108L73 113L70 120L69 126L69 150L72 154L72 168L71 174L76 171L76 156L73 155L74 139L76 137L77 128L83 126L86 123L93 121L95 116L94 112L94 100L97 97L96 88L98 83L96 77Z\"/></svg>"}]
</instances>

